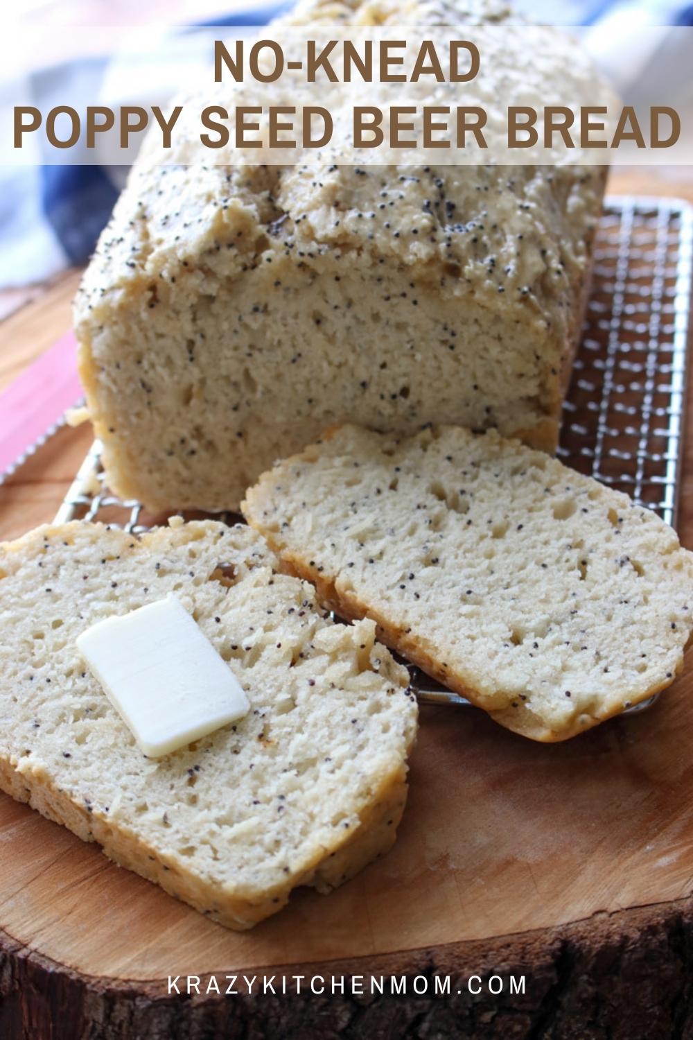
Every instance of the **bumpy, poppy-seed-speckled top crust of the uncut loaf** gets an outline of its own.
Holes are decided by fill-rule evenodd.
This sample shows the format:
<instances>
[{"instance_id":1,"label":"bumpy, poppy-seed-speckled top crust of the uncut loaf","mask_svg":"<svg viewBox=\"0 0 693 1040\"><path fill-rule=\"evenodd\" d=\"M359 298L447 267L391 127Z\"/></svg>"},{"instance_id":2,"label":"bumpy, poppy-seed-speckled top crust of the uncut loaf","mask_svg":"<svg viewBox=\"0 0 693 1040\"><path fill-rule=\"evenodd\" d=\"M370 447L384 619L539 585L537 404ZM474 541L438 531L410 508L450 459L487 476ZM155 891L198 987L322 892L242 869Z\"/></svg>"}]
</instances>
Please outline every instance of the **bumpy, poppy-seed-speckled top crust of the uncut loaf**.
<instances>
[{"instance_id":1,"label":"bumpy, poppy-seed-speckled top crust of the uncut loaf","mask_svg":"<svg viewBox=\"0 0 693 1040\"><path fill-rule=\"evenodd\" d=\"M494 0L310 0L281 23L512 25L513 17L507 5ZM509 36L507 47L513 44ZM587 52L568 36L557 37L548 60L549 84L563 82L566 68L584 64L585 76L589 71ZM495 99L502 75L492 61L482 63L475 87L486 84ZM416 87L407 84L409 93ZM425 78L418 87L430 100ZM231 94L222 83L219 97L212 98L207 83L202 95L179 100L190 111L198 111L201 102L243 103L236 96L243 85L233 88ZM285 89L281 80L254 82L247 101L265 107L283 100L295 103L291 96L283 99ZM365 89L368 103L377 103L382 88L368 83ZM551 94L550 85L544 93ZM320 84L319 100L332 110L343 95L339 83ZM351 107L353 98L347 101ZM548 322L565 338L601 209L603 167L362 167L344 164L339 154L330 156L326 150L317 167L213 165L209 155L202 161L197 156L191 167L191 140L180 132L161 165L154 149L159 136L145 140L85 274L76 298L80 341L112 320L114 310L131 307L133 296L148 300L156 320L156 308L165 308L169 292L213 298L226 280L267 258L275 262L292 255L310 270L327 251L346 257L363 251L393 266L402 264L417 284L428 283L436 291L463 296L473 287L490 308L502 307L521 321Z\"/></svg>"}]
</instances>

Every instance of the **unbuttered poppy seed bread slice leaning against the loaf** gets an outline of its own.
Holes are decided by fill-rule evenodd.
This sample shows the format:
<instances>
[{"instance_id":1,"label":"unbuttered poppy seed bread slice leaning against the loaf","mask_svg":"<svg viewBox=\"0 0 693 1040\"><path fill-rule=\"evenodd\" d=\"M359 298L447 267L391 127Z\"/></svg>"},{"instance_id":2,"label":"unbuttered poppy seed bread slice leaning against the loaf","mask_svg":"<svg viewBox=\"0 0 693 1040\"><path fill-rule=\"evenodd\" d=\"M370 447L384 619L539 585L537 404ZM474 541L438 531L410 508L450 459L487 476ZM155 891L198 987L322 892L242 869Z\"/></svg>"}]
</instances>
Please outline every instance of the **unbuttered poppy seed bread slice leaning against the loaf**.
<instances>
[{"instance_id":1,"label":"unbuttered poppy seed bread slice leaning against the loaf","mask_svg":"<svg viewBox=\"0 0 693 1040\"><path fill-rule=\"evenodd\" d=\"M503 726L574 736L668 686L693 555L628 496L455 426L338 428L243 511L291 572Z\"/></svg>"}]
</instances>

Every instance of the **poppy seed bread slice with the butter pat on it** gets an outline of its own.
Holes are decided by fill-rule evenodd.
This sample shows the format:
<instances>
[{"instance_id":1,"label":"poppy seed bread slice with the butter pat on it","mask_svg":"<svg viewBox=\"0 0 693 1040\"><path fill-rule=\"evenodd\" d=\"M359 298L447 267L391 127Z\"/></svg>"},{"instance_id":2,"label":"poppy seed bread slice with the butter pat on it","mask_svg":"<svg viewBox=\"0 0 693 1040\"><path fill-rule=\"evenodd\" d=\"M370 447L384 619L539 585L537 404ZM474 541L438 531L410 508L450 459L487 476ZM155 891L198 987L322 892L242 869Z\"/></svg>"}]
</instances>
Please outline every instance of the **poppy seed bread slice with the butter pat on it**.
<instances>
[{"instance_id":1,"label":"poppy seed bread slice with the butter pat on it","mask_svg":"<svg viewBox=\"0 0 693 1040\"><path fill-rule=\"evenodd\" d=\"M250 528L212 521L141 538L77 522L0 547L0 787L234 929L391 847L417 728L374 624L334 624L276 565ZM149 759L75 640L169 593L251 711Z\"/></svg>"}]
</instances>

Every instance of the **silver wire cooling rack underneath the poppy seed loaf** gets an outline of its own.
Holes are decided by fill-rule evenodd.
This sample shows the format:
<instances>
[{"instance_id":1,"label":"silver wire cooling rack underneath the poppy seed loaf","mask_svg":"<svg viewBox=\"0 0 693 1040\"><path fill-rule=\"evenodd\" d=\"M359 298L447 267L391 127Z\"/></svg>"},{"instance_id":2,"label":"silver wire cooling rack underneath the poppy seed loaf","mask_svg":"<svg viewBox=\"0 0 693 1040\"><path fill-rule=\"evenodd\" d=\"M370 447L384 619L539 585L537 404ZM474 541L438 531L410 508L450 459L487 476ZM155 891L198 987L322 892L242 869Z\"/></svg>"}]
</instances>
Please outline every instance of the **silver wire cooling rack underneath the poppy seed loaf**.
<instances>
[{"instance_id":1,"label":"silver wire cooling rack underneath the poppy seed loaf","mask_svg":"<svg viewBox=\"0 0 693 1040\"><path fill-rule=\"evenodd\" d=\"M683 456L692 278L692 206L669 199L606 201L558 449L567 465L628 492L672 525ZM209 514L181 515L193 519ZM55 519L103 520L137 534L166 516L148 513L140 502L124 501L108 490L101 445L95 442ZM222 513L217 519L241 518ZM468 703L410 670L420 700Z\"/></svg>"}]
</instances>

